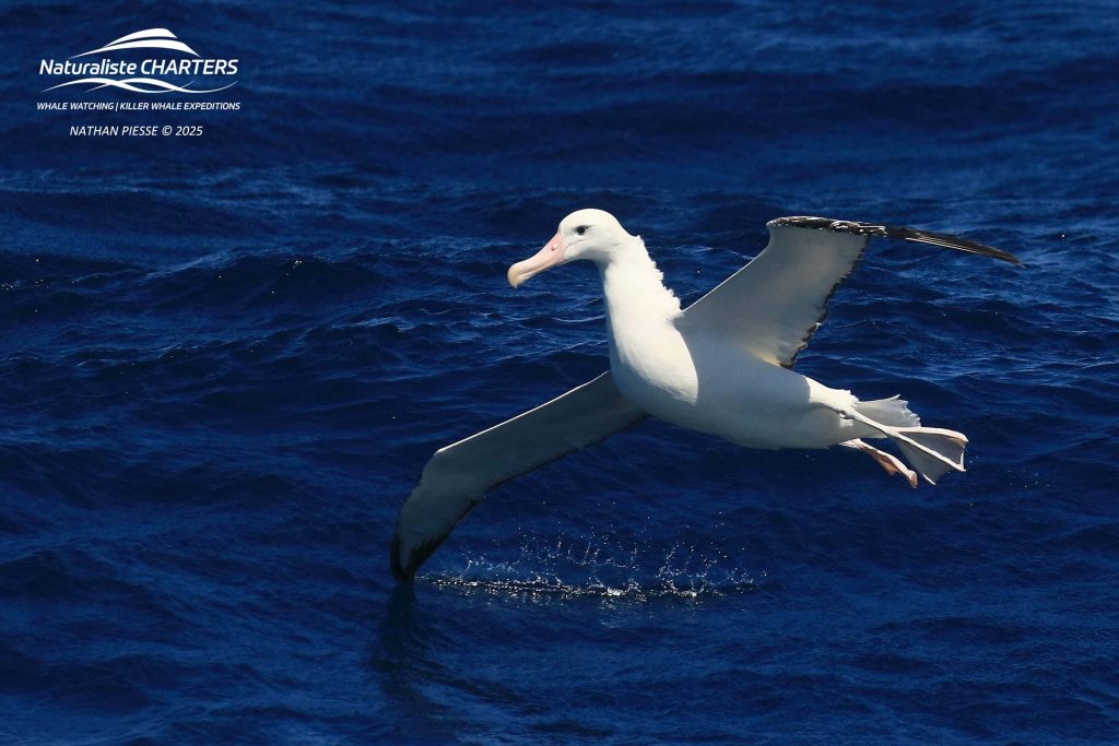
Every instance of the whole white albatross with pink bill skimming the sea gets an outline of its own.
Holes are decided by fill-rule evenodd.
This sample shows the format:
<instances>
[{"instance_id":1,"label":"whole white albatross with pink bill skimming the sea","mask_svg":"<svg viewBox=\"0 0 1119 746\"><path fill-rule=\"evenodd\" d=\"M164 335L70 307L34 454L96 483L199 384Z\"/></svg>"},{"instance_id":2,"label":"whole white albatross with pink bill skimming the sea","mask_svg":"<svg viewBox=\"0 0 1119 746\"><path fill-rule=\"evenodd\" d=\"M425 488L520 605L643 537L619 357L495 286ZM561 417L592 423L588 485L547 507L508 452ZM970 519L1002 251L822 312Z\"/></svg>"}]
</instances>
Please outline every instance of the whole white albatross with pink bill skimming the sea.
<instances>
[{"instance_id":1,"label":"whole white albatross with pink bill skimming the sea","mask_svg":"<svg viewBox=\"0 0 1119 746\"><path fill-rule=\"evenodd\" d=\"M843 445L914 488L918 475L934 484L948 471L963 471L962 433L922 427L896 396L862 402L793 372L792 363L872 237L1018 259L953 236L850 220L786 217L769 229L761 254L684 310L641 238L602 210L572 213L539 253L509 267L509 284L517 287L558 264L598 265L610 370L436 451L401 508L393 574L412 579L488 490L648 415L754 448ZM864 438L893 441L910 465Z\"/></svg>"}]
</instances>

